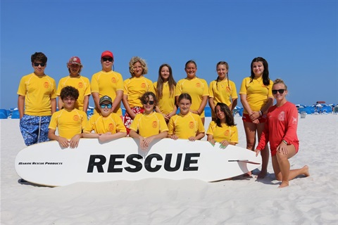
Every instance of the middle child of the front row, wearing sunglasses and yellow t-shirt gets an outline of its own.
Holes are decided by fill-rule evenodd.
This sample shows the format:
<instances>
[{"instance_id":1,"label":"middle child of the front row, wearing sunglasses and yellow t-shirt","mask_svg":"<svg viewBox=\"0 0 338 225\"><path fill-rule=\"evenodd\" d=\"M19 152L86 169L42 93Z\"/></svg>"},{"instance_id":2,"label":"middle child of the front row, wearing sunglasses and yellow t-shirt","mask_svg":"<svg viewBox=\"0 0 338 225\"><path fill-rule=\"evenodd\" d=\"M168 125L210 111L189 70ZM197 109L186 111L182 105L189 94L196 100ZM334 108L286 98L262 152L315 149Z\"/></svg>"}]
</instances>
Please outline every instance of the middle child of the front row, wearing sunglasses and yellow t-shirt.
<instances>
[{"instance_id":1,"label":"middle child of the front row, wearing sunglasses and yellow t-shirt","mask_svg":"<svg viewBox=\"0 0 338 225\"><path fill-rule=\"evenodd\" d=\"M146 92L140 98L144 113L139 113L130 125L130 136L139 139L139 146L147 150L154 139L163 139L168 134L168 126L161 113L154 112L157 99L153 92Z\"/></svg>"}]
</instances>

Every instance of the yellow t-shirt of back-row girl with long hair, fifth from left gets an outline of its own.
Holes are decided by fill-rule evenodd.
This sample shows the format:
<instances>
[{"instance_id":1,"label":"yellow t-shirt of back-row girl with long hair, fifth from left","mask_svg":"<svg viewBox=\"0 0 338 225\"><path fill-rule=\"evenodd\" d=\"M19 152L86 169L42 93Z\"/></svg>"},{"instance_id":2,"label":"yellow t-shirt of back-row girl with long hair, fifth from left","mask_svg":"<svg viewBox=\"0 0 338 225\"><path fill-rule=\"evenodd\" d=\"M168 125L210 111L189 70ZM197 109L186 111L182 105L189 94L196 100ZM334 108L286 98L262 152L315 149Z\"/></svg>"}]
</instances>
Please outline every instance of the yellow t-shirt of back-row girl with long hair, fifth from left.
<instances>
[{"instance_id":1,"label":"yellow t-shirt of back-row girl with long hair, fifth from left","mask_svg":"<svg viewBox=\"0 0 338 225\"><path fill-rule=\"evenodd\" d=\"M157 82L154 82L154 90L155 94L157 91ZM156 95L156 97L158 97ZM161 113L169 114L173 112L174 106L175 106L175 86L173 90L173 94L170 96L170 89L168 82L163 83L163 92L162 92L162 98L157 99L158 101L158 108L160 108Z\"/></svg>"}]
</instances>

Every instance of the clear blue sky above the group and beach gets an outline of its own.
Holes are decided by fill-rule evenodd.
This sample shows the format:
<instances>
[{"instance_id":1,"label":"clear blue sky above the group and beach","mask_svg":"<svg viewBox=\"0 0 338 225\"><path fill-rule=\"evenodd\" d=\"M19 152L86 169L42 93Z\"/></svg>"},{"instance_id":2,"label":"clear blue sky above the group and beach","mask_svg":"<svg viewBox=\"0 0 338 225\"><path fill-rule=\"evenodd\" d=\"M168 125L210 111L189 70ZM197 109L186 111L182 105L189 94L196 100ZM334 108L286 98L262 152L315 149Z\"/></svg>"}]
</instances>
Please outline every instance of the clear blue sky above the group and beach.
<instances>
[{"instance_id":1,"label":"clear blue sky above the group and beach","mask_svg":"<svg viewBox=\"0 0 338 225\"><path fill-rule=\"evenodd\" d=\"M15 1L1 0L1 102L17 105L18 84L33 71L30 56L48 57L56 82L79 56L82 75L101 70L101 52L113 51L115 71L130 77L132 56L144 58L153 82L168 63L176 81L187 60L210 83L225 60L239 91L251 60L268 60L270 79L282 78L288 100L338 103L338 1ZM93 101L89 103L93 105ZM242 106L239 102L239 106Z\"/></svg>"}]
</instances>

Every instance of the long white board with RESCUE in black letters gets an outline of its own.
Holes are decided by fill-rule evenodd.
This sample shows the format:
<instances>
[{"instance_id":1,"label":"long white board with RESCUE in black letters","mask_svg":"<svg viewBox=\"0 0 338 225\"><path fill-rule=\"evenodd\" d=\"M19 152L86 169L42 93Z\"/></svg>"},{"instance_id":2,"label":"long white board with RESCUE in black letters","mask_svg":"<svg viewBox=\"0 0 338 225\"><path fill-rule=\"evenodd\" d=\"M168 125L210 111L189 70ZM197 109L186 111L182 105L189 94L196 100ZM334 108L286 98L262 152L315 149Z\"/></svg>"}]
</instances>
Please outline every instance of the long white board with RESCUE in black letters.
<instances>
[{"instance_id":1,"label":"long white board with RESCUE in black letters","mask_svg":"<svg viewBox=\"0 0 338 225\"><path fill-rule=\"evenodd\" d=\"M138 142L132 138L107 143L80 139L75 149L61 148L57 141L37 143L18 153L15 170L33 184L65 186L147 178L219 181L261 165L260 155L238 146L223 149L220 143L212 146L208 141L161 139L144 151Z\"/></svg>"}]
</instances>

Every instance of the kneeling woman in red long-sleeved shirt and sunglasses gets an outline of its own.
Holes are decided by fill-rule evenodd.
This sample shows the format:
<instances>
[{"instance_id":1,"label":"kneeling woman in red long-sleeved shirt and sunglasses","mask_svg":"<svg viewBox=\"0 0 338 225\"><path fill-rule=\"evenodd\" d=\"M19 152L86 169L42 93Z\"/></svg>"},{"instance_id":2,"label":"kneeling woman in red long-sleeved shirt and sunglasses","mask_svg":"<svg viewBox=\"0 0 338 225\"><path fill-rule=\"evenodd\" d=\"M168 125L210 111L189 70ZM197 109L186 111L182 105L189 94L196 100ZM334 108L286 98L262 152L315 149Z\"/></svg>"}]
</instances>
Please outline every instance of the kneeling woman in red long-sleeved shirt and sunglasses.
<instances>
[{"instance_id":1,"label":"kneeling woman in red long-sleeved shirt and sunglasses","mask_svg":"<svg viewBox=\"0 0 338 225\"><path fill-rule=\"evenodd\" d=\"M268 110L268 120L261 139L255 150L256 155L270 143L273 160L273 171L276 179L282 181L279 188L289 186L289 180L296 176L310 176L308 166L301 169L290 170L289 158L292 158L299 150L297 137L298 110L296 105L287 101L287 85L282 79L273 82L273 96L277 103Z\"/></svg>"}]
</instances>

